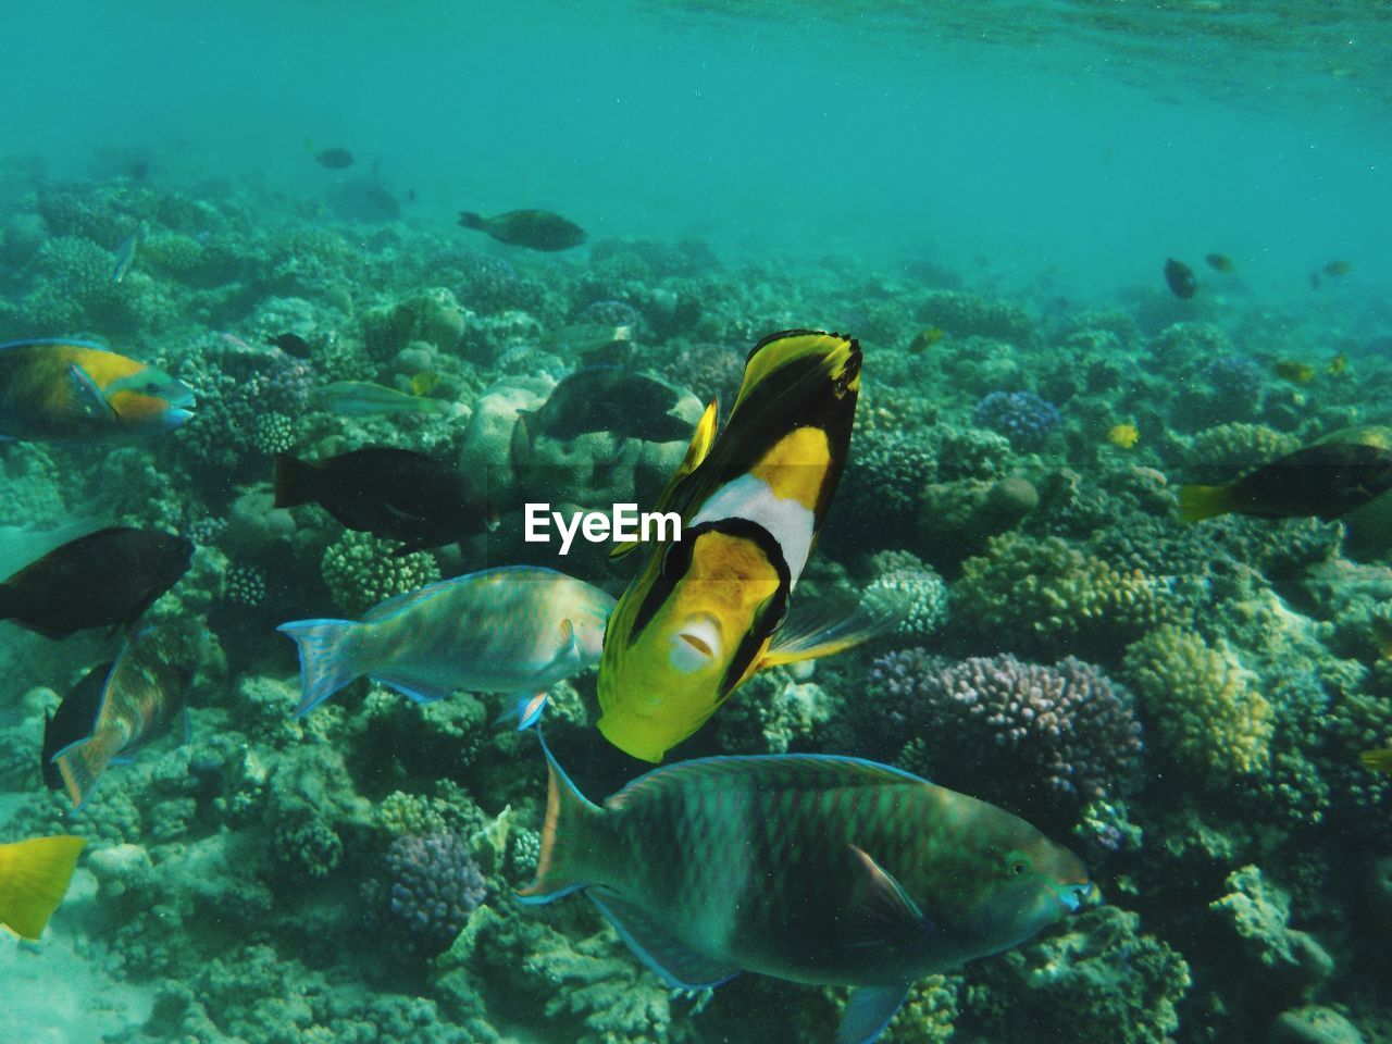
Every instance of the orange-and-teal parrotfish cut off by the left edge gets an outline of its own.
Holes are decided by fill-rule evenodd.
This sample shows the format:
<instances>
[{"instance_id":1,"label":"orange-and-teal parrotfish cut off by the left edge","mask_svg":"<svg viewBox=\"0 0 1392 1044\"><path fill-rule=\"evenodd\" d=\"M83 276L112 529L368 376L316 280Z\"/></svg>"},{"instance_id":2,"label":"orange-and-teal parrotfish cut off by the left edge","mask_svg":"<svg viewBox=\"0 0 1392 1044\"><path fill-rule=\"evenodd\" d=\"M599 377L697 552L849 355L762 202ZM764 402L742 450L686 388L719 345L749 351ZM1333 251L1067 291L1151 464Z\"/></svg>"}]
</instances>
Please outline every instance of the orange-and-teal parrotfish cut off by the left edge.
<instances>
[{"instance_id":1,"label":"orange-and-teal parrotfish cut off by the left edge","mask_svg":"<svg viewBox=\"0 0 1392 1044\"><path fill-rule=\"evenodd\" d=\"M182 381L96 344L0 345L0 440L142 438L180 427L192 406Z\"/></svg>"}]
</instances>

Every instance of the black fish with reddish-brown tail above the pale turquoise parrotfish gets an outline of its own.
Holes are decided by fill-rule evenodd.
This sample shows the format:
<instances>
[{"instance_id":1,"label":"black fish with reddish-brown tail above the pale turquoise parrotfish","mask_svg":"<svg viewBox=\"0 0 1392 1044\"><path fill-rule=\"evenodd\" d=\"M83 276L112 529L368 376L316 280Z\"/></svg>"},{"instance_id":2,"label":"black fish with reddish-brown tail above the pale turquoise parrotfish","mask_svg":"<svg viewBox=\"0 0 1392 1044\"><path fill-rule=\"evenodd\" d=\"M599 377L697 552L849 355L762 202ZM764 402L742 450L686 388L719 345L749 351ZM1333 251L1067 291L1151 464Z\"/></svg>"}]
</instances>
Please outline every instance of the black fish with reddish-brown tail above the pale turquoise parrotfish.
<instances>
[{"instance_id":1,"label":"black fish with reddish-brown tail above the pale turquoise parrotfish","mask_svg":"<svg viewBox=\"0 0 1392 1044\"><path fill-rule=\"evenodd\" d=\"M348 529L401 540L398 555L493 525L486 498L459 472L411 450L354 450L317 464L276 454L276 507L296 504L319 504Z\"/></svg>"}]
</instances>

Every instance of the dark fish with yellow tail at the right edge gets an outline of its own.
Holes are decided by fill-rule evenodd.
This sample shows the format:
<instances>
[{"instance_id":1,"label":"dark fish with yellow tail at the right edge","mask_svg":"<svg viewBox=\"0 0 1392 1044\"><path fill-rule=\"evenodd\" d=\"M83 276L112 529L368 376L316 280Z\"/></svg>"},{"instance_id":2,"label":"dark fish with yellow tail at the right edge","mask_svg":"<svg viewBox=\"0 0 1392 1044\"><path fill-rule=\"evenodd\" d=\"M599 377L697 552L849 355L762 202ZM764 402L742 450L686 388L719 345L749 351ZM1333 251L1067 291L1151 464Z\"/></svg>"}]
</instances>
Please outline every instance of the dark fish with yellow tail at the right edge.
<instances>
[{"instance_id":1,"label":"dark fish with yellow tail at the right edge","mask_svg":"<svg viewBox=\"0 0 1392 1044\"><path fill-rule=\"evenodd\" d=\"M1226 486L1182 486L1179 518L1339 518L1392 489L1392 452L1361 443L1296 450Z\"/></svg>"}]
</instances>

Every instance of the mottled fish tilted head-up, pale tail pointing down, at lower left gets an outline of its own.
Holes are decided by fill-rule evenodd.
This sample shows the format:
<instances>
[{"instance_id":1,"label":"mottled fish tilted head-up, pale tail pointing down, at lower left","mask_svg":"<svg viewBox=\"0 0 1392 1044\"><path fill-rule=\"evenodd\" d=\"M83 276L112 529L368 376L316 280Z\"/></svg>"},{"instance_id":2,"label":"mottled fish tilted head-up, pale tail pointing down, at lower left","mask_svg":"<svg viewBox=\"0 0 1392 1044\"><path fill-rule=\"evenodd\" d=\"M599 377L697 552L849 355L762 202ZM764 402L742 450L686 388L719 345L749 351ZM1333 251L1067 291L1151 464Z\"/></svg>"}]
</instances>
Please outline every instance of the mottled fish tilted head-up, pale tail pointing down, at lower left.
<instances>
[{"instance_id":1,"label":"mottled fish tilted head-up, pale tail pointing down, at lower left","mask_svg":"<svg viewBox=\"0 0 1392 1044\"><path fill-rule=\"evenodd\" d=\"M129 643L111 664L97 696L96 717L86 731L72 718L61 728L74 728L78 738L53 754L63 786L74 807L92 798L107 767L128 756L163 729L184 706L192 670L182 656L187 646L177 632L150 629ZM82 699L82 686L72 696ZM60 714L63 707L58 709ZM58 715L49 722L54 728ZM67 736L45 736L45 748Z\"/></svg>"}]
</instances>

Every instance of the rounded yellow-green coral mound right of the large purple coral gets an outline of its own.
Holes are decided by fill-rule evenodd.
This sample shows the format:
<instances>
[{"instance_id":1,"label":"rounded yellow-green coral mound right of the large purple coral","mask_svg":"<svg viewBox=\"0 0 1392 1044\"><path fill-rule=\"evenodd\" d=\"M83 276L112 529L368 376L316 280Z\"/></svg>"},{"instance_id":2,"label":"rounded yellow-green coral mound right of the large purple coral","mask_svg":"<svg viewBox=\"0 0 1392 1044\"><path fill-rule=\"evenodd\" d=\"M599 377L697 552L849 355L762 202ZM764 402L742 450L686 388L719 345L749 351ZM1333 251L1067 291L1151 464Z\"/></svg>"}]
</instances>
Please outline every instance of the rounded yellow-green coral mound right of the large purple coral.
<instances>
[{"instance_id":1,"label":"rounded yellow-green coral mound right of the large purple coral","mask_svg":"<svg viewBox=\"0 0 1392 1044\"><path fill-rule=\"evenodd\" d=\"M1226 643L1160 626L1126 650L1126 672L1162 746L1187 767L1228 777L1270 764L1275 715Z\"/></svg>"}]
</instances>

